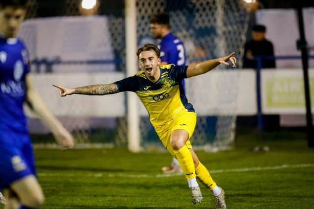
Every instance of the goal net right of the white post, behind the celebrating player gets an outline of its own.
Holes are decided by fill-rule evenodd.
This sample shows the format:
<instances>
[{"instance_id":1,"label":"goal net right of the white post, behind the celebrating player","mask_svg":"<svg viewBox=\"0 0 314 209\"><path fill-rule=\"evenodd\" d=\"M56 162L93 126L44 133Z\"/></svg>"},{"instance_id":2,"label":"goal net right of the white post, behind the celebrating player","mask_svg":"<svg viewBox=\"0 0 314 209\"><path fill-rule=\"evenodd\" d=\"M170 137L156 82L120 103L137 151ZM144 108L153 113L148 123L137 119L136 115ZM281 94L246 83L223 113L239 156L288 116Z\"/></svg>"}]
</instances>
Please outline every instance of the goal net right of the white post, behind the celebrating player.
<instances>
[{"instance_id":1,"label":"goal net right of the white post, behind the celebrating player","mask_svg":"<svg viewBox=\"0 0 314 209\"><path fill-rule=\"evenodd\" d=\"M139 46L151 42L147 23L152 14L166 12L171 31L184 43L187 64L225 56L233 51L241 67L247 31L248 12L242 0L137 0ZM220 69L223 69L220 67ZM232 148L235 139L237 79L236 70L213 70L186 79L186 94L198 115L192 136L194 148L217 151ZM148 116L141 118L141 141L147 149L160 147Z\"/></svg>"}]
</instances>

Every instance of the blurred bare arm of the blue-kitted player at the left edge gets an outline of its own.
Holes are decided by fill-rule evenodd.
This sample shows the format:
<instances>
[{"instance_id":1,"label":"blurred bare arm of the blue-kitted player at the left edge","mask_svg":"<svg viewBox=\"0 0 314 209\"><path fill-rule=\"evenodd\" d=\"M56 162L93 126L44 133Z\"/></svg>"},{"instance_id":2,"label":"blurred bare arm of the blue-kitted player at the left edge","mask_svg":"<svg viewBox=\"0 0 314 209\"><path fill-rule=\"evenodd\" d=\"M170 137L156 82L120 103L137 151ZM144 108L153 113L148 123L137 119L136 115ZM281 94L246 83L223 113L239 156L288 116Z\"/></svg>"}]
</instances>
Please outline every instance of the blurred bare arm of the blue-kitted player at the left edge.
<instances>
[{"instance_id":1,"label":"blurred bare arm of the blue-kitted player at the left edge","mask_svg":"<svg viewBox=\"0 0 314 209\"><path fill-rule=\"evenodd\" d=\"M74 140L71 134L63 127L60 121L52 114L46 103L32 84L30 74L26 75L26 102L37 116L50 128L58 144L62 148L71 148Z\"/></svg>"}]
</instances>

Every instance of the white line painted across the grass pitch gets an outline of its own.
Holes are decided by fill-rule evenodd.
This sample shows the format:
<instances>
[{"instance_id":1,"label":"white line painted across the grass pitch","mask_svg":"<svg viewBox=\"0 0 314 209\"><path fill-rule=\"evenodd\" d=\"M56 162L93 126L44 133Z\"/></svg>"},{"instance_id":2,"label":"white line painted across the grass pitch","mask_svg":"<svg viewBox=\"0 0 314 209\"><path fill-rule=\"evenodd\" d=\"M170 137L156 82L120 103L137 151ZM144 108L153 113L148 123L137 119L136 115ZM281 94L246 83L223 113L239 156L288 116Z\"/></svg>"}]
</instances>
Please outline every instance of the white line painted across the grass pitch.
<instances>
[{"instance_id":1,"label":"white line painted across the grass pitch","mask_svg":"<svg viewBox=\"0 0 314 209\"><path fill-rule=\"evenodd\" d=\"M250 172L250 171L261 171L261 170L279 170L284 168L302 168L302 167L314 167L314 164L282 164L277 166L266 166L266 167L251 167L251 168L236 168L236 169L221 169L211 170L210 173L234 173L234 172ZM167 174L114 174L114 173L89 173L85 177L111 177L111 178L166 178L172 176L181 176L182 173L167 173ZM74 177L79 176L73 173L38 173L38 176L62 176L62 177Z\"/></svg>"}]
</instances>

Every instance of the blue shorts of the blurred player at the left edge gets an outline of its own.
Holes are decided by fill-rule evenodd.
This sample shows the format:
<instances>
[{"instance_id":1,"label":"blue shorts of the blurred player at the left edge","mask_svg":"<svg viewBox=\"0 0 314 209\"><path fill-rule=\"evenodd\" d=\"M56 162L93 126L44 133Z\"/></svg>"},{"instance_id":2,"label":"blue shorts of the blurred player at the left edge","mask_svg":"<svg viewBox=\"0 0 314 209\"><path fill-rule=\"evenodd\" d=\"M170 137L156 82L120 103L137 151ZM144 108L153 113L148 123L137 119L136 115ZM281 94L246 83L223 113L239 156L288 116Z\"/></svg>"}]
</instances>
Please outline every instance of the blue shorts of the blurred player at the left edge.
<instances>
[{"instance_id":1,"label":"blue shorts of the blurred player at the left edge","mask_svg":"<svg viewBox=\"0 0 314 209\"><path fill-rule=\"evenodd\" d=\"M0 190L28 175L36 176L29 135L0 130Z\"/></svg>"}]
</instances>

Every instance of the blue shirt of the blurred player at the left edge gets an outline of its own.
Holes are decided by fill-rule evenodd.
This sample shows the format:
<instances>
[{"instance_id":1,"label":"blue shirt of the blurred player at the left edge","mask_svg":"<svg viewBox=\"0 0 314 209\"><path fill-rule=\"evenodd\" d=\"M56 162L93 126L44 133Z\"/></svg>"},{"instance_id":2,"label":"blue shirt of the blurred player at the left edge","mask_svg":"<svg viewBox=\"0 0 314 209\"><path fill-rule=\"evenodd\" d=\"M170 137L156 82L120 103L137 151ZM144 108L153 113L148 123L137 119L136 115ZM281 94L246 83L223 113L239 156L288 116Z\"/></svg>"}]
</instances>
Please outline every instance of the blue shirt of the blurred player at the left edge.
<instances>
[{"instance_id":1,"label":"blue shirt of the blurred player at the left edge","mask_svg":"<svg viewBox=\"0 0 314 209\"><path fill-rule=\"evenodd\" d=\"M23 103L28 72L26 46L17 38L0 37L0 132L27 133Z\"/></svg>"}]
</instances>

